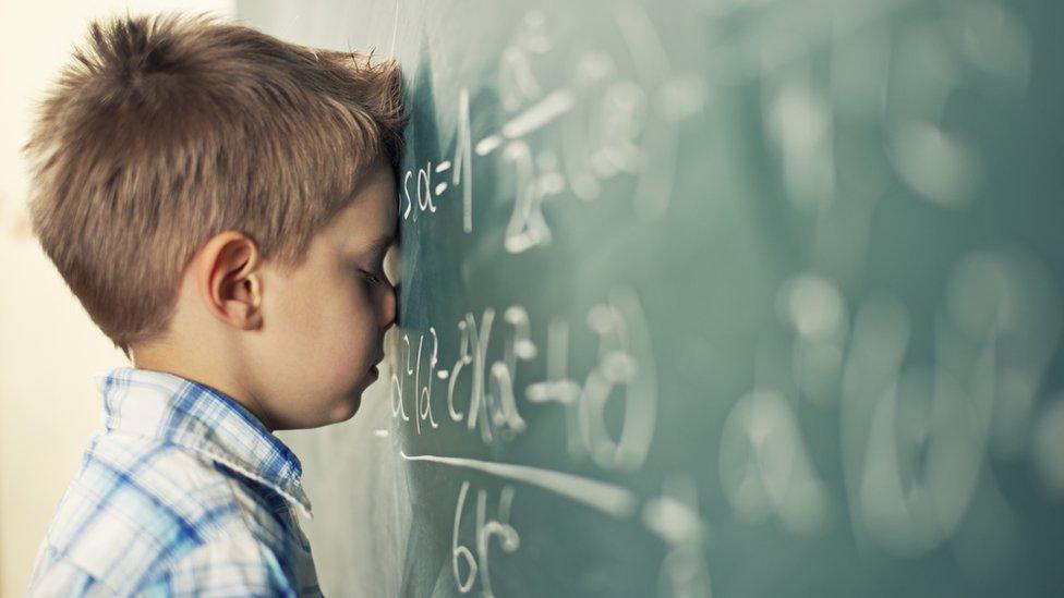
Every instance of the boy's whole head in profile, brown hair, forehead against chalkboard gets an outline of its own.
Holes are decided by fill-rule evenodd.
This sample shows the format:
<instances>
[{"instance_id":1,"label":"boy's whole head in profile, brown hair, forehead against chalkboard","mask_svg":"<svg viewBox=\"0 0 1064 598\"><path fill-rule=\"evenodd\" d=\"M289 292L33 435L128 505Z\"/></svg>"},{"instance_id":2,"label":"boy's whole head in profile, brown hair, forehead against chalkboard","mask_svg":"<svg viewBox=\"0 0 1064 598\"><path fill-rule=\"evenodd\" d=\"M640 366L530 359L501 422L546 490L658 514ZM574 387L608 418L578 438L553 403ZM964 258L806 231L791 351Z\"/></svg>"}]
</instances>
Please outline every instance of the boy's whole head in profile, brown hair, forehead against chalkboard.
<instances>
[{"instance_id":1,"label":"boy's whole head in profile, brown hair, forehead against chalkboard","mask_svg":"<svg viewBox=\"0 0 1064 598\"><path fill-rule=\"evenodd\" d=\"M137 367L271 429L350 417L395 319L398 66L203 15L89 33L24 148L44 251Z\"/></svg>"}]
</instances>

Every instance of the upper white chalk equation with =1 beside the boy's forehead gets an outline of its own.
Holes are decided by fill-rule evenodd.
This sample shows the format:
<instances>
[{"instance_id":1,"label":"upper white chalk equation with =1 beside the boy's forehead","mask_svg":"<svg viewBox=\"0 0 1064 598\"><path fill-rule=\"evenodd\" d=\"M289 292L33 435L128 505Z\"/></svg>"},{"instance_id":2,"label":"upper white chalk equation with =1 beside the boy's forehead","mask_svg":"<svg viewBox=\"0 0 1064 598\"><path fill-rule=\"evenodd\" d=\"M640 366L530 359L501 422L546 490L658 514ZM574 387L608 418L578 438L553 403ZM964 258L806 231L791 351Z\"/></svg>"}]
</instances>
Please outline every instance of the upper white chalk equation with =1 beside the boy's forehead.
<instances>
[{"instance_id":1,"label":"upper white chalk equation with =1 beside the boy's forehead","mask_svg":"<svg viewBox=\"0 0 1064 598\"><path fill-rule=\"evenodd\" d=\"M633 54L645 52L648 45L660 48L645 14L619 9L617 21ZM544 217L549 198L570 192L580 200L594 202L602 196L604 182L622 174L638 178L632 193L637 213L661 216L670 197L676 126L701 109L701 80L668 75L661 50L652 52L656 58L650 62L637 61L639 71L632 75L618 69L608 53L589 51L573 61L568 85L544 89L533 64L552 49L546 16L531 12L521 23L513 44L501 53L496 74L501 108L509 119L497 131L474 138L469 90L461 89L450 154L400 178L402 219L435 215L442 202L460 197L462 230L472 233L473 161L492 158L501 161L505 193L512 197L503 237L509 253L551 243ZM554 146L533 145L529 137L551 126L559 132Z\"/></svg>"}]
</instances>

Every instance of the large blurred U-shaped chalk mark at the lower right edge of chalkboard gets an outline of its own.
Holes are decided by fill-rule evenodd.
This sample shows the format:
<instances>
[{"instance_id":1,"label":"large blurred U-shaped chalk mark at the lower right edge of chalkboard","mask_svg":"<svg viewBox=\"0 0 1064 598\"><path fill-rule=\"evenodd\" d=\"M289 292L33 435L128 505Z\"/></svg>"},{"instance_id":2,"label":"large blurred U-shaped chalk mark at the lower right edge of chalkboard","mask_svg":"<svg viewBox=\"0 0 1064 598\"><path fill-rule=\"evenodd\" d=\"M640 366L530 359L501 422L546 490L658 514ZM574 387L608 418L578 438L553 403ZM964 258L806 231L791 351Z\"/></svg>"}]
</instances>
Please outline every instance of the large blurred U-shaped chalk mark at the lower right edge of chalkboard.
<instances>
[{"instance_id":1,"label":"large blurred U-shaped chalk mark at the lower right edge of chalkboard","mask_svg":"<svg viewBox=\"0 0 1064 598\"><path fill-rule=\"evenodd\" d=\"M954 536L980 488L995 486L988 457L1024 450L1060 307L1048 270L1033 257L1018 249L972 254L947 284L934 361L912 365L905 305L874 297L861 306L842 396L858 533L903 556Z\"/></svg>"}]
</instances>

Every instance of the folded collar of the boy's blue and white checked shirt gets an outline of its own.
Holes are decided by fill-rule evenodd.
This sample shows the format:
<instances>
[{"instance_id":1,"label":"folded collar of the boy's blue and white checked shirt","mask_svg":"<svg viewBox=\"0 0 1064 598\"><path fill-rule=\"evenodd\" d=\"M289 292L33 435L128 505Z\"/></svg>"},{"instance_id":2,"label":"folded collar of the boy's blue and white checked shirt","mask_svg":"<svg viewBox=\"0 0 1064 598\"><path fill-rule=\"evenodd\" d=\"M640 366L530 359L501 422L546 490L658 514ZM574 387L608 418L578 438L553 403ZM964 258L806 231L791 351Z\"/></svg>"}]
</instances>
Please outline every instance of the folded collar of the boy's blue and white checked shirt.
<instances>
[{"instance_id":1,"label":"folded collar of the boy's blue and white checked shirt","mask_svg":"<svg viewBox=\"0 0 1064 598\"><path fill-rule=\"evenodd\" d=\"M269 486L313 516L299 457L231 396L166 371L118 367L94 377L106 429L189 449Z\"/></svg>"}]
</instances>

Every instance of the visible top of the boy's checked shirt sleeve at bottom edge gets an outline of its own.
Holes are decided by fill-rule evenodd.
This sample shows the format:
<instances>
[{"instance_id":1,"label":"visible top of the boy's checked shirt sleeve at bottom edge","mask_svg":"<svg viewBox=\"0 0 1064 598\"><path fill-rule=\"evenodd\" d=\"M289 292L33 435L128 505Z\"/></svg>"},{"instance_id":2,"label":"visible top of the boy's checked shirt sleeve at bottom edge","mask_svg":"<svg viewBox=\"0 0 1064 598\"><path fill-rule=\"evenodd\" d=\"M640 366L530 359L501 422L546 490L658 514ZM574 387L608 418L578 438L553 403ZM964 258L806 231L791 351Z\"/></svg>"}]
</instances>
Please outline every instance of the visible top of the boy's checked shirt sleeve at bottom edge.
<instances>
[{"instance_id":1,"label":"visible top of the boy's checked shirt sleeve at bottom edge","mask_svg":"<svg viewBox=\"0 0 1064 598\"><path fill-rule=\"evenodd\" d=\"M144 596L297 596L277 557L265 545L218 539L183 554L152 577Z\"/></svg>"}]
</instances>

